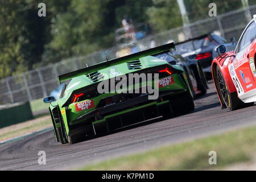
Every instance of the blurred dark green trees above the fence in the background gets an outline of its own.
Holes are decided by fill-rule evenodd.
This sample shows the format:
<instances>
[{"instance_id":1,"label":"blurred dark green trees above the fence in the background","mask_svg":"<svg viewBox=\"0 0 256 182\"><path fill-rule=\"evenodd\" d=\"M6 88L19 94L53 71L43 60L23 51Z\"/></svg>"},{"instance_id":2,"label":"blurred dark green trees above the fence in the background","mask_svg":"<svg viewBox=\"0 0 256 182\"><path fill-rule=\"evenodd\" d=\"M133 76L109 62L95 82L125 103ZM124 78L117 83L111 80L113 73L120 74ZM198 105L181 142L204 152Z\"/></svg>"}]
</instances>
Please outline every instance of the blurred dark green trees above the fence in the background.
<instances>
[{"instance_id":1,"label":"blurred dark green trees above the fence in the background","mask_svg":"<svg viewBox=\"0 0 256 182\"><path fill-rule=\"evenodd\" d=\"M255 0L254 0L255 1ZM0 78L70 56L115 46L115 30L128 15L156 32L182 25L177 0L0 1ZM184 0L189 20L209 18L210 0ZM213 1L217 13L239 9L241 0Z\"/></svg>"}]
</instances>

